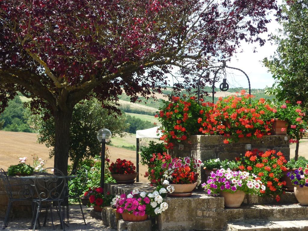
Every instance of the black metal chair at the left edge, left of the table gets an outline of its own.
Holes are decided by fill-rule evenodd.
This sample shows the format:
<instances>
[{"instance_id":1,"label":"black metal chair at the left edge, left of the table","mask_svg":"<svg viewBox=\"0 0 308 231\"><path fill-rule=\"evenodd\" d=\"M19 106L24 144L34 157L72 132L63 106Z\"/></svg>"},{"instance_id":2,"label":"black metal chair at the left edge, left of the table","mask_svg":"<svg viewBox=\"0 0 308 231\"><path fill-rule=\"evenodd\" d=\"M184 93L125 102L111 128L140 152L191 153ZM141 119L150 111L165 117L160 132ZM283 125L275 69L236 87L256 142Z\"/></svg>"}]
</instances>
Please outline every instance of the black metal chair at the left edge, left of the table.
<instances>
[{"instance_id":1,"label":"black metal chair at the left edge, left of the table","mask_svg":"<svg viewBox=\"0 0 308 231\"><path fill-rule=\"evenodd\" d=\"M6 172L2 168L1 177L5 186L7 196L9 197L9 204L7 205L4 224L2 228L5 229L9 223L12 204L15 201L32 201L33 190L29 184L10 184L9 178L7 177ZM13 188L15 187L17 187L18 189L20 188L18 191L18 195L13 194ZM14 189L14 191L16 191L16 189Z\"/></svg>"}]
</instances>

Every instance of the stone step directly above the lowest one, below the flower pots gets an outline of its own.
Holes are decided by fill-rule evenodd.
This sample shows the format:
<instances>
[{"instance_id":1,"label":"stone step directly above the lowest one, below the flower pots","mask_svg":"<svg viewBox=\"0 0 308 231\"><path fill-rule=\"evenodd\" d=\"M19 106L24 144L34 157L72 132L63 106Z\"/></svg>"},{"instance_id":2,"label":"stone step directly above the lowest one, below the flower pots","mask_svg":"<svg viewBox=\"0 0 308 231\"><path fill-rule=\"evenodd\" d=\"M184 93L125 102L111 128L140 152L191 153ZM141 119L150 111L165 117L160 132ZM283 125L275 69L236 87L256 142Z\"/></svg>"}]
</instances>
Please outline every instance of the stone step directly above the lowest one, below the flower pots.
<instances>
[{"instance_id":1,"label":"stone step directly above the lowest one, below the flower pots","mask_svg":"<svg viewBox=\"0 0 308 231\"><path fill-rule=\"evenodd\" d=\"M247 219L266 219L270 221L308 219L308 207L299 204L244 205L238 209L225 208L225 213L227 221L243 221Z\"/></svg>"}]
</instances>

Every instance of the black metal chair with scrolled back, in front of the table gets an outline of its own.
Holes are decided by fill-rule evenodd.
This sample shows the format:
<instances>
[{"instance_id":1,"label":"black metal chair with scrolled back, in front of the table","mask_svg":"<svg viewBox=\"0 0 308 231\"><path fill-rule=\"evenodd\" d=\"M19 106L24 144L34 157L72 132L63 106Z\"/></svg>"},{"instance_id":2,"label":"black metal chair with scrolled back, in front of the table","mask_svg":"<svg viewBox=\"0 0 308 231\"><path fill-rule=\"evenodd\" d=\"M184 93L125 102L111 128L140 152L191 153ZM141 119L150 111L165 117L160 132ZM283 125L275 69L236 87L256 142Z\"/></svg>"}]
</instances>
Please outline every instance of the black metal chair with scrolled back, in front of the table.
<instances>
[{"instance_id":1,"label":"black metal chair with scrolled back, in front of the table","mask_svg":"<svg viewBox=\"0 0 308 231\"><path fill-rule=\"evenodd\" d=\"M54 169L53 174L47 175L46 172L48 170ZM60 218L61 228L65 231L65 226L62 218L61 207L60 204L64 201L64 188L67 187L66 180L64 174L56 169L56 168L45 168L38 172L34 179L34 188L38 195L37 198L33 198L34 209L33 209L33 231L35 230L36 222L39 217L39 213L41 211L41 206L43 202L47 203L46 216L48 213L48 208L51 211L51 222L52 226L55 229L52 217L52 203L56 203L58 215ZM44 221L44 225L46 223L46 217Z\"/></svg>"}]
</instances>

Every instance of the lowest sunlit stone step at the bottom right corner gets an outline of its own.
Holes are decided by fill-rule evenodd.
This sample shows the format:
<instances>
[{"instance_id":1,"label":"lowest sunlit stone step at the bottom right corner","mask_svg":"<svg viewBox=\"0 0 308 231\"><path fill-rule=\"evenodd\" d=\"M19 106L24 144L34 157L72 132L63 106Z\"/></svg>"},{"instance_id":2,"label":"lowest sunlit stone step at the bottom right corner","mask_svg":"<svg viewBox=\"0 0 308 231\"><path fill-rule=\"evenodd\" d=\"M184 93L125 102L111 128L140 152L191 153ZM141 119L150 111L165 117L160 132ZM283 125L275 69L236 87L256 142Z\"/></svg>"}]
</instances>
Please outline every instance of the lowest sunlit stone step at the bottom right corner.
<instances>
[{"instance_id":1,"label":"lowest sunlit stone step at the bottom right corner","mask_svg":"<svg viewBox=\"0 0 308 231\"><path fill-rule=\"evenodd\" d=\"M231 222L225 231L308 231L308 220Z\"/></svg>"}]
</instances>

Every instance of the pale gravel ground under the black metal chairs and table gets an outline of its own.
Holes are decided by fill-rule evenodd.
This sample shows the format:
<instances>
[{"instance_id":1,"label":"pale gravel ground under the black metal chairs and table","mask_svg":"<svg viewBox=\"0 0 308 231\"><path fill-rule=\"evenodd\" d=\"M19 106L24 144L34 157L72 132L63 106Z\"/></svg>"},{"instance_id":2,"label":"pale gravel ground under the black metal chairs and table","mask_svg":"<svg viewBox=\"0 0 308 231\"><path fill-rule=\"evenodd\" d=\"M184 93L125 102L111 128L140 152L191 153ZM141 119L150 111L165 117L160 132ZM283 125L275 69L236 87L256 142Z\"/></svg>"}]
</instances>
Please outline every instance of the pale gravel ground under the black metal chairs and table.
<instances>
[{"instance_id":1,"label":"pale gravel ground under the black metal chairs and table","mask_svg":"<svg viewBox=\"0 0 308 231\"><path fill-rule=\"evenodd\" d=\"M115 229L111 229L109 227L106 227L103 225L102 221L97 220L95 218L90 217L90 210L91 208L87 208L83 206L83 212L85 214L85 219L87 222L87 225L84 225L83 218L81 215L81 211L79 206L71 205L70 207L70 223L69 227L65 226L65 230L75 230L75 231L83 231L83 230L89 230L89 231L115 231ZM43 217L43 210L42 210L42 217L40 216L41 225L43 225L44 217ZM42 231L44 230L53 230L52 224L51 224L51 218L50 213L48 215L48 220L46 223L46 226L41 226ZM55 230L62 230L60 229L60 222L59 217L56 212L53 213L53 219L55 224ZM4 218L1 218L0 228L2 229ZM27 230L29 231L31 223L31 218L14 218L10 219L9 224L5 230L8 231L22 231Z\"/></svg>"}]
</instances>

